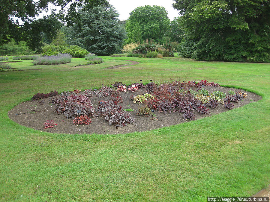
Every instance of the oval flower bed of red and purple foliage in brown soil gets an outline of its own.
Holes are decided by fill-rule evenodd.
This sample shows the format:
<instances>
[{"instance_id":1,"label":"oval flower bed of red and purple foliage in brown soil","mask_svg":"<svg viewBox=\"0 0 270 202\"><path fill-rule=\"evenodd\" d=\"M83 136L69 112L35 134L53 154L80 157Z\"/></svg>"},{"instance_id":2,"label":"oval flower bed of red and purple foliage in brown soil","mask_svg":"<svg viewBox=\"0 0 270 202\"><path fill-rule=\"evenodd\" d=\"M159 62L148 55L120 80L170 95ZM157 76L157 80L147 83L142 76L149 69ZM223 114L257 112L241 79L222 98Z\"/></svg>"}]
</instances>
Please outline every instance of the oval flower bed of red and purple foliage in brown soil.
<instances>
[{"instance_id":1,"label":"oval flower bed of red and purple foliage in brown soil","mask_svg":"<svg viewBox=\"0 0 270 202\"><path fill-rule=\"evenodd\" d=\"M38 93L8 113L21 125L56 133L128 133L175 125L241 107L260 96L205 81L121 82L113 87Z\"/></svg>"}]
</instances>

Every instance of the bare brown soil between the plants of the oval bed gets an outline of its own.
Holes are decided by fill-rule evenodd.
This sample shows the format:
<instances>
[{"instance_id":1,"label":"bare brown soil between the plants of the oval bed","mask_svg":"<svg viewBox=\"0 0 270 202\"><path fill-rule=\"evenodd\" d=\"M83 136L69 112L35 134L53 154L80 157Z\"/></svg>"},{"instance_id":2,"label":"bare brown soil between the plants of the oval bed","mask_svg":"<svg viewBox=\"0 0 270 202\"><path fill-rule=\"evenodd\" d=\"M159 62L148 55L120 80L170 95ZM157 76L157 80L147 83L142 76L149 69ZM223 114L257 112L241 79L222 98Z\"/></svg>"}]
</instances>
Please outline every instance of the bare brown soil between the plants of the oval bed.
<instances>
[{"instance_id":1,"label":"bare brown soil between the plants of the oval bed","mask_svg":"<svg viewBox=\"0 0 270 202\"><path fill-rule=\"evenodd\" d=\"M229 90L234 90L235 92L239 91L239 89L225 88L225 87L215 87L215 86L205 86L205 89L209 91L209 94L220 90L222 92L226 92L228 95ZM241 90L242 92L246 92ZM36 130L42 130L50 133L67 133L67 134L91 134L91 133L99 133L99 134L117 134L117 133L131 133L135 131L146 131L152 130L156 128L171 126L180 124L183 122L187 122L188 120L183 119L183 114L174 112L167 113L164 112L159 113L155 111L155 114L158 120L152 120L147 116L137 116L138 107L143 104L134 104L133 101L130 100L131 95L143 94L145 93L145 89L140 89L138 92L121 92L121 97L123 98L123 103L119 103L122 106L122 109L132 108L134 111L129 112L131 116L135 118L135 122L132 124L128 124L127 127L118 127L109 125L107 121L104 120L103 117L92 118L92 123L89 125L74 125L72 119L67 119L63 114L57 115L54 112L55 104L51 104L51 98L44 99L44 104L39 104L38 101L27 101L23 102L12 110L8 112L8 116L11 120L19 123L20 125L24 125L27 127L34 128ZM235 103L235 107L242 107L245 104L250 102L255 102L261 99L259 95L256 95L251 92L246 92L247 98L244 98L242 101L238 101ZM90 98L93 106L97 109L98 104L101 100L107 101L110 100L110 97L106 98ZM202 115L198 112L195 112L196 119L201 119L206 116L211 116L214 114L222 113L228 111L229 109L225 108L224 105L219 104L218 107L209 109L209 115ZM53 128L44 129L44 122L46 120L52 119L57 124Z\"/></svg>"}]
</instances>

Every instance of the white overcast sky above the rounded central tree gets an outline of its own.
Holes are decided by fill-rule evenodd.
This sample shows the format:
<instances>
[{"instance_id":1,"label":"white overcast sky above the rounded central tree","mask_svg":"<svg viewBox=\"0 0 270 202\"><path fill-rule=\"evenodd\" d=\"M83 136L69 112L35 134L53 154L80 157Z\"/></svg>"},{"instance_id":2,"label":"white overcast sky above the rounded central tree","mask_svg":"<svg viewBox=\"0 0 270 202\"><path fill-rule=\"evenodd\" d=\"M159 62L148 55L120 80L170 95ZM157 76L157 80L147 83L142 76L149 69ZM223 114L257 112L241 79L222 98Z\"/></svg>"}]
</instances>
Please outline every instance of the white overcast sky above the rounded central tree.
<instances>
[{"instance_id":1,"label":"white overcast sky above the rounded central tree","mask_svg":"<svg viewBox=\"0 0 270 202\"><path fill-rule=\"evenodd\" d=\"M178 10L173 9L173 0L109 0L109 3L115 7L119 13L119 20L126 20L129 17L129 13L139 6L157 5L163 6L168 11L168 17L172 21L175 17L180 16Z\"/></svg>"}]
</instances>

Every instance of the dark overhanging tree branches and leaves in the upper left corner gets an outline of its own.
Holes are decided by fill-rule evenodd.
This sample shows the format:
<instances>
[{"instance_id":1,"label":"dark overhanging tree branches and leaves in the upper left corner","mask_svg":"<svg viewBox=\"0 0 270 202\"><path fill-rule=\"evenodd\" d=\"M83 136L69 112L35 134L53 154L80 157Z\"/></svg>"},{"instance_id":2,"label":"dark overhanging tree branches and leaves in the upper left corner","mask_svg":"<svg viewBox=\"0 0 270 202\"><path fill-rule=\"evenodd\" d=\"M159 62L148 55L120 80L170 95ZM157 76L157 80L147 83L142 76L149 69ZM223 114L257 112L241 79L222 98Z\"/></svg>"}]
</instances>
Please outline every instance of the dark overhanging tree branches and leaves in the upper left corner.
<instances>
[{"instance_id":1,"label":"dark overhanging tree branches and leaves in the upper left corner","mask_svg":"<svg viewBox=\"0 0 270 202\"><path fill-rule=\"evenodd\" d=\"M60 7L59 13L52 11L37 19L41 12L49 10L49 4ZM52 40L61 27L60 21L72 25L79 20L77 7L84 5L88 10L107 4L107 0L0 0L0 45L11 39L26 40L30 48L40 51L42 35Z\"/></svg>"}]
</instances>

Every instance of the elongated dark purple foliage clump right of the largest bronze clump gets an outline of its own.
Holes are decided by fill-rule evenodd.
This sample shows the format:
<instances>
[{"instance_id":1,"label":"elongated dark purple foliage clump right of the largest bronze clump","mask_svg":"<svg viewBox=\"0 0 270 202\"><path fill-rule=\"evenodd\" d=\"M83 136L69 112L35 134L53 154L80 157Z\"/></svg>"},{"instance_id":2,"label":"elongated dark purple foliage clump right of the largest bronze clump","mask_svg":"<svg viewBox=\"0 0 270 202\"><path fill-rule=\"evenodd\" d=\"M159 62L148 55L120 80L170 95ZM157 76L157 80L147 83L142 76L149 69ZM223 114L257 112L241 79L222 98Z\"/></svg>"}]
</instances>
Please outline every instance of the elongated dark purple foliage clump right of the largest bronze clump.
<instances>
[{"instance_id":1,"label":"elongated dark purple foliage clump right of the largest bronze clump","mask_svg":"<svg viewBox=\"0 0 270 202\"><path fill-rule=\"evenodd\" d=\"M110 125L115 125L116 127L127 126L128 123L135 121L133 117L130 117L130 113L123 112L121 106L118 106L113 101L102 101L98 106L98 113L104 116Z\"/></svg>"}]
</instances>

